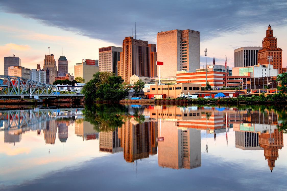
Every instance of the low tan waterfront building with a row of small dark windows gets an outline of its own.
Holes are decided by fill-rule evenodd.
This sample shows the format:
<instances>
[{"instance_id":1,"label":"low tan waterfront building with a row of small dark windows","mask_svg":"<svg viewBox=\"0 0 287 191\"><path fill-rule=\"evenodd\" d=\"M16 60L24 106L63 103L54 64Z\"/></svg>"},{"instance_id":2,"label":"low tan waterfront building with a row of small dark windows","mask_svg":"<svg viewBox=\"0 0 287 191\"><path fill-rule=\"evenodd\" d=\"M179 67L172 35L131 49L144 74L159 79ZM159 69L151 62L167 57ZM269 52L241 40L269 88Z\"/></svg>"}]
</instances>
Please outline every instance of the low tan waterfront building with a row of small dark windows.
<instances>
[{"instance_id":1,"label":"low tan waterfront building with a row of small dark windows","mask_svg":"<svg viewBox=\"0 0 287 191\"><path fill-rule=\"evenodd\" d=\"M172 85L151 85L149 94L166 94L166 98L177 98L180 93L190 94L199 92L201 84L196 83L183 83Z\"/></svg>"}]
</instances>

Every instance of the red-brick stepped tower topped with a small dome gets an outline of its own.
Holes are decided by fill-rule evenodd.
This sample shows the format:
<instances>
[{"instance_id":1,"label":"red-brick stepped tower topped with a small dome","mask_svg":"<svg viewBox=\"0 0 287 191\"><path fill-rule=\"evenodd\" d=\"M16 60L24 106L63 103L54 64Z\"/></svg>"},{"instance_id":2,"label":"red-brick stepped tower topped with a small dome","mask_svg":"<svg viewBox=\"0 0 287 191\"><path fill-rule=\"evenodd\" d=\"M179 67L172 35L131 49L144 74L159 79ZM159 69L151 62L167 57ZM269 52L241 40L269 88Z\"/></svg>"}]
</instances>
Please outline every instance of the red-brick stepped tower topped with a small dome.
<instances>
[{"instance_id":1,"label":"red-brick stepped tower topped with a small dome","mask_svg":"<svg viewBox=\"0 0 287 191\"><path fill-rule=\"evenodd\" d=\"M273 68L278 70L278 74L282 73L282 49L277 47L277 38L273 36L273 30L269 25L266 30L266 36L262 41L262 49L258 51L258 63L261 65L269 64L267 56L272 56L273 61L270 62Z\"/></svg>"}]
</instances>

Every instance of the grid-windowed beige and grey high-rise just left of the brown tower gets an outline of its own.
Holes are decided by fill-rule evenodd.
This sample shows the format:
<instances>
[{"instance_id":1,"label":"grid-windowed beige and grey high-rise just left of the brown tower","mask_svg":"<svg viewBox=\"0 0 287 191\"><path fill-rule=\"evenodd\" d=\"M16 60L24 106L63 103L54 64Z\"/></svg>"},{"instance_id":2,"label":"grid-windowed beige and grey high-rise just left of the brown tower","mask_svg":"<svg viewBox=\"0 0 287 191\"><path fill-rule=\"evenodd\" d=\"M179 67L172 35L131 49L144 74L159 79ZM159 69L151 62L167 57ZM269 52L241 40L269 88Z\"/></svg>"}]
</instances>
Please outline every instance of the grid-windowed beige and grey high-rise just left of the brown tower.
<instances>
[{"instance_id":1,"label":"grid-windowed beige and grey high-rise just left of the brown tower","mask_svg":"<svg viewBox=\"0 0 287 191\"><path fill-rule=\"evenodd\" d=\"M117 76L120 52L123 52L123 48L116 46L99 48L99 71L113 72Z\"/></svg>"}]
</instances>

